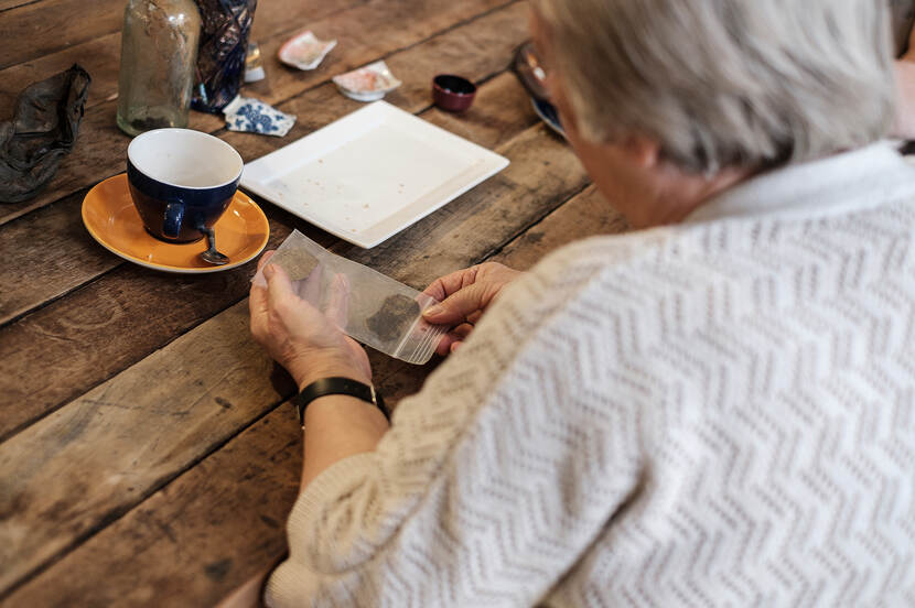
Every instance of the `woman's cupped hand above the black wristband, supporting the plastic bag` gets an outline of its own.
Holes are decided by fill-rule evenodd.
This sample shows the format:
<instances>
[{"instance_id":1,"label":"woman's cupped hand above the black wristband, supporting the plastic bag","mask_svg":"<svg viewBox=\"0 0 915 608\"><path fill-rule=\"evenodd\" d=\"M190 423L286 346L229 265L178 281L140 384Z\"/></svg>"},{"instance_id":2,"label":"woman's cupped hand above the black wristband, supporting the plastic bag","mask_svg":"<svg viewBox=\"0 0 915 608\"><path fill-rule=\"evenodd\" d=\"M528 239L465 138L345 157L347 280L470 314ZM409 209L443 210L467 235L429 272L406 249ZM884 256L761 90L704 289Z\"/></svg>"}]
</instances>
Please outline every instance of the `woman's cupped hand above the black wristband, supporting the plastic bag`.
<instances>
[{"instance_id":1,"label":"woman's cupped hand above the black wristband, supporting the plastic bag","mask_svg":"<svg viewBox=\"0 0 915 608\"><path fill-rule=\"evenodd\" d=\"M365 350L295 295L286 272L269 263L272 253L266 253L258 263L267 287L251 285L251 335L292 374L300 390L330 376L369 383L372 368Z\"/></svg>"}]
</instances>

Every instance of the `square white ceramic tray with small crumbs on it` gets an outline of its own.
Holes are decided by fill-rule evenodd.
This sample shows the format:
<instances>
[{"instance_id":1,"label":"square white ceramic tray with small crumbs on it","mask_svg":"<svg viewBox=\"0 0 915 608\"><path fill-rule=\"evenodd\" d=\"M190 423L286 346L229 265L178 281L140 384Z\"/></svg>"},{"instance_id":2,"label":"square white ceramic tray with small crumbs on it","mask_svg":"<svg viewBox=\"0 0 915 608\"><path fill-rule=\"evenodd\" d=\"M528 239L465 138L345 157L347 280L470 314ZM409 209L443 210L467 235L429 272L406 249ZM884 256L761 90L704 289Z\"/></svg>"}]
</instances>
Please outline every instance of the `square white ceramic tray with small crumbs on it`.
<instances>
[{"instance_id":1,"label":"square white ceramic tray with small crumbs on it","mask_svg":"<svg viewBox=\"0 0 915 608\"><path fill-rule=\"evenodd\" d=\"M376 101L247 164L241 186L368 249L506 166L507 159Z\"/></svg>"}]
</instances>

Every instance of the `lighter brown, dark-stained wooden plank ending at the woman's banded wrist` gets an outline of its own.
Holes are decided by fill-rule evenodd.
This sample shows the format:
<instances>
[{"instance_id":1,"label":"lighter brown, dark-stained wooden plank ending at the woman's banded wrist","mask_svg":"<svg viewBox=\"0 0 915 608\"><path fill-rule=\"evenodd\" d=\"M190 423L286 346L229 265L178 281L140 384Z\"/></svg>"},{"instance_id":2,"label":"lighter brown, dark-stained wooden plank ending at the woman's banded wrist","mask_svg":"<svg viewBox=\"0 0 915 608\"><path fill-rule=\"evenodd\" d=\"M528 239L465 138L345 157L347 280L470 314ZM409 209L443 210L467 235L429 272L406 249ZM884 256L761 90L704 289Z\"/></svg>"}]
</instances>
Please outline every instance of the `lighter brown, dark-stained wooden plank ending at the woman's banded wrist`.
<instances>
[{"instance_id":1,"label":"lighter brown, dark-stained wooden plank ending at the woman's banded wrist","mask_svg":"<svg viewBox=\"0 0 915 608\"><path fill-rule=\"evenodd\" d=\"M0 445L0 589L278 401L247 302L204 325Z\"/></svg>"}]
</instances>

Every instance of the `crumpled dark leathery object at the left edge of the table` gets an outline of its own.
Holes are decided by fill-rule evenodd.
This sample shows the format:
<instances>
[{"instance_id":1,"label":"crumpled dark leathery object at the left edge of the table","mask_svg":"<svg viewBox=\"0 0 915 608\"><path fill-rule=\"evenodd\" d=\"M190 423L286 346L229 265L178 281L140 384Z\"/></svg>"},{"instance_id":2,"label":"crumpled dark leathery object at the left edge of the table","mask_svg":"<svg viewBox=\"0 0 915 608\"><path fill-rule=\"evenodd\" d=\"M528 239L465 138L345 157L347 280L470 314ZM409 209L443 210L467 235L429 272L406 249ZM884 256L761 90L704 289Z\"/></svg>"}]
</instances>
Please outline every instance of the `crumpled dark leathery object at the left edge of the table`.
<instances>
[{"instance_id":1,"label":"crumpled dark leathery object at the left edge of the table","mask_svg":"<svg viewBox=\"0 0 915 608\"><path fill-rule=\"evenodd\" d=\"M0 122L0 203L35 196L76 142L89 74L75 65L19 94L11 121Z\"/></svg>"}]
</instances>

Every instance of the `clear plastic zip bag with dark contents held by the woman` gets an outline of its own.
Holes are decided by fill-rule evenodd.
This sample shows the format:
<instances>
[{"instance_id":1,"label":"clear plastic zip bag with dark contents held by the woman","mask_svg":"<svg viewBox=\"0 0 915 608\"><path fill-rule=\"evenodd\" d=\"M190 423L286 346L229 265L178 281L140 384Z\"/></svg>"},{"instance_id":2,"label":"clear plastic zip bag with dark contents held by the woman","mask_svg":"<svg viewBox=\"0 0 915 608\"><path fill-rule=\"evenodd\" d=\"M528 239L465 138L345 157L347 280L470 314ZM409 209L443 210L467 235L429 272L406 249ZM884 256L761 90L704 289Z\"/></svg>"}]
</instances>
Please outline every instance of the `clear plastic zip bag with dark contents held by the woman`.
<instances>
[{"instance_id":1,"label":"clear plastic zip bag with dark contents held by the woman","mask_svg":"<svg viewBox=\"0 0 915 608\"><path fill-rule=\"evenodd\" d=\"M270 263L289 274L299 297L346 335L396 359L427 362L449 329L422 318L435 298L331 253L298 230L277 249ZM267 284L260 271L252 282Z\"/></svg>"}]
</instances>

